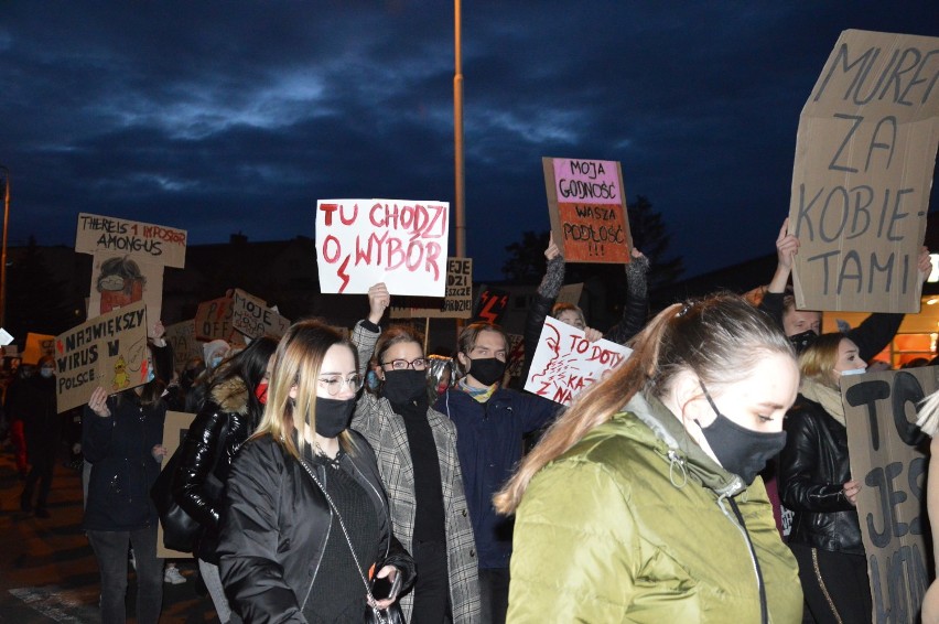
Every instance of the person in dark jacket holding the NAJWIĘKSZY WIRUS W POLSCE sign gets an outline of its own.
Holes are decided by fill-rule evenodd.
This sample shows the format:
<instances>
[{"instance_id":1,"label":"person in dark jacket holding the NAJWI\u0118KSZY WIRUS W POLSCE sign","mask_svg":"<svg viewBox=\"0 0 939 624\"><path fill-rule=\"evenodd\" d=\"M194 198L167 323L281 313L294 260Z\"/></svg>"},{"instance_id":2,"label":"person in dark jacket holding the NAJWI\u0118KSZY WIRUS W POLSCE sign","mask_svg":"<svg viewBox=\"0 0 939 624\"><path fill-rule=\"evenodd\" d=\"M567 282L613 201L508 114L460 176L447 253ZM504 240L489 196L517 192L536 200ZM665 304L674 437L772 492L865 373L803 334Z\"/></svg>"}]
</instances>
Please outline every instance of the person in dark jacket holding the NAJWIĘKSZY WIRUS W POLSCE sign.
<instances>
[{"instance_id":1,"label":"person in dark jacket holding the NAJWI\u0118KSZY WIRUS W POLSCE sign","mask_svg":"<svg viewBox=\"0 0 939 624\"><path fill-rule=\"evenodd\" d=\"M126 621L127 552L137 562L137 621L155 624L163 601L163 562L156 558L156 507L150 488L160 474L165 384L154 374L148 343L143 386L108 396L98 387L83 418L82 448L91 464L83 526L101 574L101 622Z\"/></svg>"}]
</instances>

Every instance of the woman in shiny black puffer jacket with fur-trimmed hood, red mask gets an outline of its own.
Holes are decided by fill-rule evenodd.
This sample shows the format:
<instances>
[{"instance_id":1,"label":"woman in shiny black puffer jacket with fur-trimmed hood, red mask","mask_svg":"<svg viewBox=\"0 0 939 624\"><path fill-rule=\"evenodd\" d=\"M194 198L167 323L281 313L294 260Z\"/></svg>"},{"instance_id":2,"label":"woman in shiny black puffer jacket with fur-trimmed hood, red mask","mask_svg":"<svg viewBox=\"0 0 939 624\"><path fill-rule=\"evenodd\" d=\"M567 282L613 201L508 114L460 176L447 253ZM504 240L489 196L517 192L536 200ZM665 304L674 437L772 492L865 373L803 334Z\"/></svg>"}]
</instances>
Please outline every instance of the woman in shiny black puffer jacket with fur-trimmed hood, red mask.
<instances>
[{"instance_id":1,"label":"woman in shiny black puffer jacket with fur-trimmed hood, red mask","mask_svg":"<svg viewBox=\"0 0 939 624\"><path fill-rule=\"evenodd\" d=\"M222 589L215 555L222 488L235 453L261 420L274 349L277 341L263 336L219 365L207 400L186 433L173 477L176 503L202 525L193 553L223 624L231 620L231 610Z\"/></svg>"}]
</instances>

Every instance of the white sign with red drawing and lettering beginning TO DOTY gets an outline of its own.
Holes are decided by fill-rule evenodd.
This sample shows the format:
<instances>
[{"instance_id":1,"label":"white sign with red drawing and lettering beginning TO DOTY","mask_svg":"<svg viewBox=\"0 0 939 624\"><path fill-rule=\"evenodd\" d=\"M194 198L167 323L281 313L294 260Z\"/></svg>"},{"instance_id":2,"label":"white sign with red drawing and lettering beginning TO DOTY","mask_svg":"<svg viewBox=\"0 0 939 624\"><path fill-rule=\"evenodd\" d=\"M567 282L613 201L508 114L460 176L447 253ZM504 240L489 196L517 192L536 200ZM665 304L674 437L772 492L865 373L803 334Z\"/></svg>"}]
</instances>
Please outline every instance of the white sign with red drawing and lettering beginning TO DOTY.
<instances>
[{"instance_id":1,"label":"white sign with red drawing and lettering beginning TO DOTY","mask_svg":"<svg viewBox=\"0 0 939 624\"><path fill-rule=\"evenodd\" d=\"M531 359L525 389L563 406L583 389L603 379L633 353L623 345L598 340L550 316Z\"/></svg>"}]
</instances>

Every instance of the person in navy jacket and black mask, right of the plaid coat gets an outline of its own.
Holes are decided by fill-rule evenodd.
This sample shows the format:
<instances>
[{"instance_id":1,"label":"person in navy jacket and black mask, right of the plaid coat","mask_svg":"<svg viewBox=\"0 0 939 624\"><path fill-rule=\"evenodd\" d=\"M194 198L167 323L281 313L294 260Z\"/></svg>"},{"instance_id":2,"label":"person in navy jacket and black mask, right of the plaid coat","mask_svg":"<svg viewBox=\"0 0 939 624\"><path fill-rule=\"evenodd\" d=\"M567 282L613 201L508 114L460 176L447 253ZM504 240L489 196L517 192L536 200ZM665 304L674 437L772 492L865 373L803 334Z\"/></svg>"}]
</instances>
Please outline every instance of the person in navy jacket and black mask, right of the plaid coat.
<instances>
[{"instance_id":1,"label":"person in navy jacket and black mask, right of the plaid coat","mask_svg":"<svg viewBox=\"0 0 939 624\"><path fill-rule=\"evenodd\" d=\"M463 377L434 408L456 426L463 488L479 551L482 622L505 622L508 610L512 520L500 517L493 495L521 460L522 439L546 427L561 406L503 387L508 340L498 325L473 323L460 334Z\"/></svg>"}]
</instances>

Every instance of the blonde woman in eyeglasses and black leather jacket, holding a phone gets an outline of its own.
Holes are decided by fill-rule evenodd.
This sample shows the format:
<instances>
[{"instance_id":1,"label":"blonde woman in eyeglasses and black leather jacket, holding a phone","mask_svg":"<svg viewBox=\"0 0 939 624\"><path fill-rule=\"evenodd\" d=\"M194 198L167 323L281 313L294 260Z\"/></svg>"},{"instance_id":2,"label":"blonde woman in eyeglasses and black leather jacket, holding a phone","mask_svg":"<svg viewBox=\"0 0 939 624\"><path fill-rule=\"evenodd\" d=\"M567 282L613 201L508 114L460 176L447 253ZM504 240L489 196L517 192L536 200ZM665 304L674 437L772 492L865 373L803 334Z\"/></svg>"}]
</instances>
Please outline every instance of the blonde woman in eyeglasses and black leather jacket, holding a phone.
<instances>
[{"instance_id":1,"label":"blonde woman in eyeglasses and black leather jacket, holding a phone","mask_svg":"<svg viewBox=\"0 0 939 624\"><path fill-rule=\"evenodd\" d=\"M231 464L216 550L245 622L361 622L367 579L413 581L375 453L348 429L360 388L355 352L335 330L303 321L287 331L261 423Z\"/></svg>"}]
</instances>

